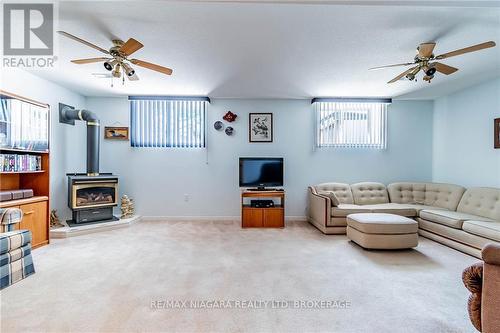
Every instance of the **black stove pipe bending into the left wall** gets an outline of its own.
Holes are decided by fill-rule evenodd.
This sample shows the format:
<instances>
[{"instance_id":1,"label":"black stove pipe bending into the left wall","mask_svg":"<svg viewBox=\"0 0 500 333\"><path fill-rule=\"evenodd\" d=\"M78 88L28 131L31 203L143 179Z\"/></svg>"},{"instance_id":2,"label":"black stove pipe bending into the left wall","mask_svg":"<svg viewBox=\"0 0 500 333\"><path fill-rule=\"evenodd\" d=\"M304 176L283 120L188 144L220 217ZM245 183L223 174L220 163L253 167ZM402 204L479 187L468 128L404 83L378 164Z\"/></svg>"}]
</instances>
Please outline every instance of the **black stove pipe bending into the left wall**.
<instances>
[{"instance_id":1,"label":"black stove pipe bending into the left wall","mask_svg":"<svg viewBox=\"0 0 500 333\"><path fill-rule=\"evenodd\" d=\"M99 176L99 119L89 110L63 109L65 120L87 122L87 176Z\"/></svg>"}]
</instances>

